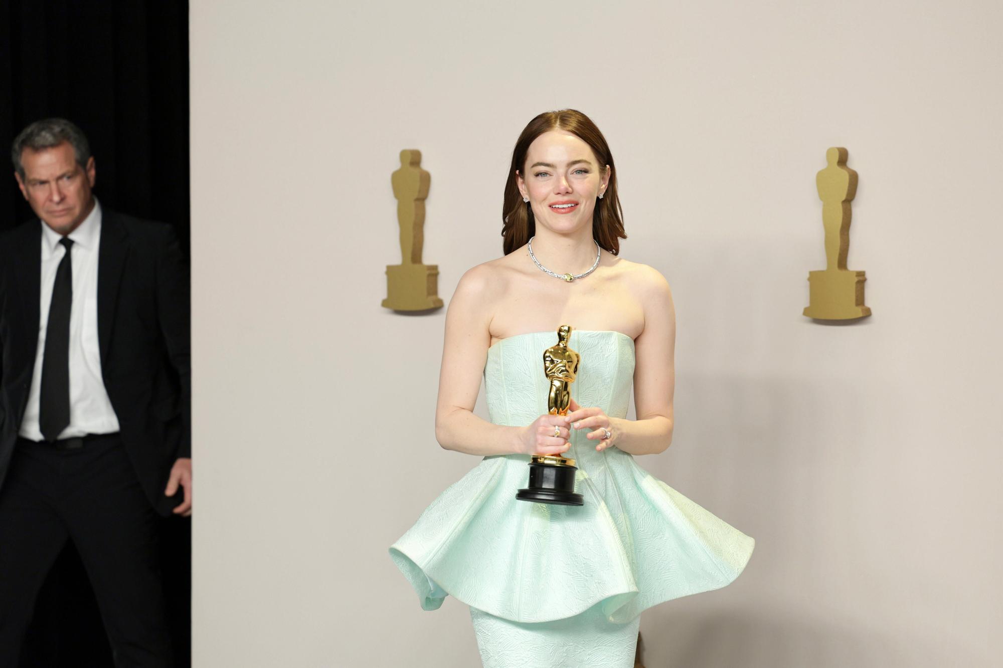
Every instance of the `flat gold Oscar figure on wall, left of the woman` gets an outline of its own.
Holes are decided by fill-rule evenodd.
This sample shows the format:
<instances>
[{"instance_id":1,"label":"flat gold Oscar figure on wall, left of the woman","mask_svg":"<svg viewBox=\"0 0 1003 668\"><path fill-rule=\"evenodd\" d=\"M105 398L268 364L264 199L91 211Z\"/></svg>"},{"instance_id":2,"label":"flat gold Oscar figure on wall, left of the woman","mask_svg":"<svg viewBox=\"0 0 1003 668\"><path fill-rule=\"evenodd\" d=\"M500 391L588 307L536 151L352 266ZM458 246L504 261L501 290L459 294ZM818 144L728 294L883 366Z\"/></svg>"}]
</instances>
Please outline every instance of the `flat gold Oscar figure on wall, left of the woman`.
<instances>
[{"instance_id":1,"label":"flat gold Oscar figure on wall, left of the woman","mask_svg":"<svg viewBox=\"0 0 1003 668\"><path fill-rule=\"evenodd\" d=\"M438 266L421 264L425 198L431 175L420 165L421 151L404 149L400 151L400 169L390 178L397 199L401 263L386 268L387 297L383 306L394 311L428 311L442 306L436 294Z\"/></svg>"}]
</instances>

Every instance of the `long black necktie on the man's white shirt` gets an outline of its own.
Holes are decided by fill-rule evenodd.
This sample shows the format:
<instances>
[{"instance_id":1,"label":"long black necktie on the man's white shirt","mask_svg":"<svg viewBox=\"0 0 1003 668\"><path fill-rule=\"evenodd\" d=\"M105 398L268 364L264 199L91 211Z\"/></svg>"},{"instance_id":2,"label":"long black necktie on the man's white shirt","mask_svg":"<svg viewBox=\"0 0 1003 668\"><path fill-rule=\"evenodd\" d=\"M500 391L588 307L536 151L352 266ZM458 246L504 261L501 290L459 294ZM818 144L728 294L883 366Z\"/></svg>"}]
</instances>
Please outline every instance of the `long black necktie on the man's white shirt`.
<instances>
[{"instance_id":1,"label":"long black necktie on the man's white shirt","mask_svg":"<svg viewBox=\"0 0 1003 668\"><path fill-rule=\"evenodd\" d=\"M47 441L53 441L69 424L69 310L73 304L73 240L59 240L66 252L56 269L45 328L45 355L42 358L42 388L38 406L38 426Z\"/></svg>"}]
</instances>

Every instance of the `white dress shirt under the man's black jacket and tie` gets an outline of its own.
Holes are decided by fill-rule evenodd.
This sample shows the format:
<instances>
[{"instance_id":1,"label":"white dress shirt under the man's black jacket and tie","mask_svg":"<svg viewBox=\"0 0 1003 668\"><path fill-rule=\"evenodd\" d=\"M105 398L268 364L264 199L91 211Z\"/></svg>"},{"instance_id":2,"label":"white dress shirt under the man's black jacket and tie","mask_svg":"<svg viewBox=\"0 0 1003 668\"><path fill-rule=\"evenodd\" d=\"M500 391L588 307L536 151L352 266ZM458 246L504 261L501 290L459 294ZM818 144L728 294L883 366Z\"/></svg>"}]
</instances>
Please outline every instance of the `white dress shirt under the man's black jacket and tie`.
<instances>
[{"instance_id":1,"label":"white dress shirt under the man's black jacket and tie","mask_svg":"<svg viewBox=\"0 0 1003 668\"><path fill-rule=\"evenodd\" d=\"M20 435L30 440L43 440L38 426L38 398L42 386L42 360L45 357L45 330L49 322L49 305L56 269L66 254L59 243L62 236L49 226L42 226L42 283L39 295L38 351L31 375L28 405L21 421ZM118 431L118 418L101 378L101 353L97 343L97 249L101 241L101 207L94 208L76 230L73 240L73 301L69 312L69 424L59 438L72 438L88 433Z\"/></svg>"}]
</instances>

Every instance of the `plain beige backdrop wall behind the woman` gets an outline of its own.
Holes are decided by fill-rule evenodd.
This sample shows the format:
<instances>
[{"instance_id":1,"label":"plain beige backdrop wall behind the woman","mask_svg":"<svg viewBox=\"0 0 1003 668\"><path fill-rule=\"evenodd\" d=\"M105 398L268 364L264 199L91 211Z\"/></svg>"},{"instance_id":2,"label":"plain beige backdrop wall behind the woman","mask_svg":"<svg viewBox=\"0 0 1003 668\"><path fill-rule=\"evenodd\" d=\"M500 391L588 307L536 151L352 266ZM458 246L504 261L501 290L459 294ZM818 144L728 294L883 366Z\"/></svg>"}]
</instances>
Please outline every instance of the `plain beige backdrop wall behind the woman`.
<instances>
[{"instance_id":1,"label":"plain beige backdrop wall behind the woman","mask_svg":"<svg viewBox=\"0 0 1003 668\"><path fill-rule=\"evenodd\" d=\"M444 311L379 306L389 179L422 150L448 300L564 106L675 294L675 442L641 463L757 540L645 613L649 668L994 665L1001 30L990 0L193 3L195 665L477 665L465 608L422 612L386 555L475 463L434 441ZM800 315L831 145L851 326Z\"/></svg>"}]
</instances>

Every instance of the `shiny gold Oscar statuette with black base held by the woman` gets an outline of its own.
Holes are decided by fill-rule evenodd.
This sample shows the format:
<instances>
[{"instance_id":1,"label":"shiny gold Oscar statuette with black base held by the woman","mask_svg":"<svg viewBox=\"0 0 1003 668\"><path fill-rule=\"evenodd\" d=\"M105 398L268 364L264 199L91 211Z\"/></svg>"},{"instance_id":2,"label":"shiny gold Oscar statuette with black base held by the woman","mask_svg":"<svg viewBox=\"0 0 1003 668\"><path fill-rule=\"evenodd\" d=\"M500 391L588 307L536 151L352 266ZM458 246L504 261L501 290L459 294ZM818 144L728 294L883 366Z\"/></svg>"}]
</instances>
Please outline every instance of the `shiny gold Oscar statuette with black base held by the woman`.
<instances>
[{"instance_id":1,"label":"shiny gold Oscar statuette with black base held by the woman","mask_svg":"<svg viewBox=\"0 0 1003 668\"><path fill-rule=\"evenodd\" d=\"M544 375L550 382L547 410L551 415L567 415L571 405L571 383L578 375L582 356L568 347L571 327L561 325L558 343L544 351ZM530 486L520 489L516 498L538 504L583 506L582 494L575 493L574 459L557 454L534 454L530 457Z\"/></svg>"}]
</instances>

